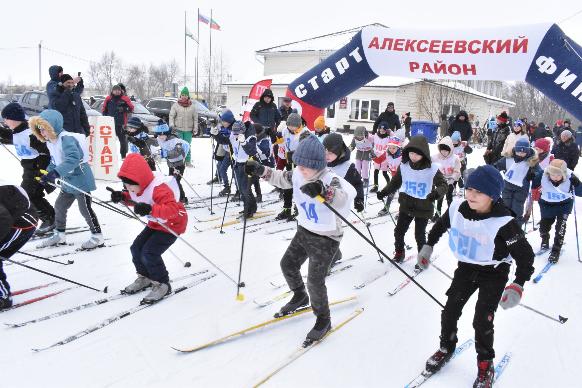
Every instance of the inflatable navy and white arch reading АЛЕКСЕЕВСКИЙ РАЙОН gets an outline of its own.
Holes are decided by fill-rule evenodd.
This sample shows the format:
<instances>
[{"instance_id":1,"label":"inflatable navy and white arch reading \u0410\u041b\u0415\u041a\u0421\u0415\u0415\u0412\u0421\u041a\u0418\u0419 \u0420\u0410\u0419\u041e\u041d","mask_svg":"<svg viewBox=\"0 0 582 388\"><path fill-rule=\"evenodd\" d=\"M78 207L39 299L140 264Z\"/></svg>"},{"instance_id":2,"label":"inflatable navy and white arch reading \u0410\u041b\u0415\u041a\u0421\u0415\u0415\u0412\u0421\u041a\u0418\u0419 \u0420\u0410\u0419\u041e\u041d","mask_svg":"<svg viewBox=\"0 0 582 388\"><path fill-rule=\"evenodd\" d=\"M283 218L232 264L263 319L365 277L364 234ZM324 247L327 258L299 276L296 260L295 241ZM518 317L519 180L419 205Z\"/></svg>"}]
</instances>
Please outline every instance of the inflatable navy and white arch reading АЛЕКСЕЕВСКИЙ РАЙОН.
<instances>
[{"instance_id":1,"label":"inflatable navy and white arch reading \u0410\u041b\u0415\u041a\u0421\u0415\u0415\u0412\u0421\u041a\u0418\u0419 \u0420\u0410\u0419\u041e\u041d","mask_svg":"<svg viewBox=\"0 0 582 388\"><path fill-rule=\"evenodd\" d=\"M378 76L526 81L582 120L582 48L556 24L472 30L367 26L286 92L307 123Z\"/></svg>"}]
</instances>

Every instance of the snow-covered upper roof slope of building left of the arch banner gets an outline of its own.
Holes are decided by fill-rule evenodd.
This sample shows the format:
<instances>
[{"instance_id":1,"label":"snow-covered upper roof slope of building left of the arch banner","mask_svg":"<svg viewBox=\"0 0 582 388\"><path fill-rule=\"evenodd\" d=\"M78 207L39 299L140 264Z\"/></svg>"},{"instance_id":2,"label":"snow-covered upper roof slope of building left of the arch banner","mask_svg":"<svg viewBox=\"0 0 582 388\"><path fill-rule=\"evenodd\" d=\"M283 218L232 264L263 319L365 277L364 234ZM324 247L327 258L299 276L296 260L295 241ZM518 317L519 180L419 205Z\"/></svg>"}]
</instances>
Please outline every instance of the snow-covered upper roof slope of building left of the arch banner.
<instances>
[{"instance_id":1,"label":"snow-covered upper roof slope of building left of the arch banner","mask_svg":"<svg viewBox=\"0 0 582 388\"><path fill-rule=\"evenodd\" d=\"M384 24L380 23L367 24L367 26L386 27ZM280 46L265 48L258 50L257 54L289 51L334 51L346 45L347 42L352 40L352 37L364 27L366 26L339 31L337 33L321 35L319 37L304 39Z\"/></svg>"}]
</instances>

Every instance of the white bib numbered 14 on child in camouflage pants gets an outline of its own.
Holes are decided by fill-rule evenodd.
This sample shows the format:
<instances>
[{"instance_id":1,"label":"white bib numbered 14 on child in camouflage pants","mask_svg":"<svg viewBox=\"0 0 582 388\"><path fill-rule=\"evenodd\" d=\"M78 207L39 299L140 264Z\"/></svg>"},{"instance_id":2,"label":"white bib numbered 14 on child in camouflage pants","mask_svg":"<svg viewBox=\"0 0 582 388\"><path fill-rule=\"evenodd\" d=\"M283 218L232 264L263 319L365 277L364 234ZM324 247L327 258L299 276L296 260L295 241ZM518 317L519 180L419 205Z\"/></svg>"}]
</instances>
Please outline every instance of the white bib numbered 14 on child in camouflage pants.
<instances>
[{"instance_id":1,"label":"white bib numbered 14 on child in camouflage pants","mask_svg":"<svg viewBox=\"0 0 582 388\"><path fill-rule=\"evenodd\" d=\"M343 208L336 210L342 216L347 217L350 213L350 207L352 207L352 201L356 198L356 189L351 184L347 183L345 179L329 170L320 178L320 180L325 184L330 184L333 178L339 180L342 190L347 194L346 204ZM293 197L299 210L299 214L297 215L299 225L306 229L316 230L318 232L336 230L335 214L317 199L301 193L300 187L306 184L306 181L297 168L293 170L292 180Z\"/></svg>"}]
</instances>

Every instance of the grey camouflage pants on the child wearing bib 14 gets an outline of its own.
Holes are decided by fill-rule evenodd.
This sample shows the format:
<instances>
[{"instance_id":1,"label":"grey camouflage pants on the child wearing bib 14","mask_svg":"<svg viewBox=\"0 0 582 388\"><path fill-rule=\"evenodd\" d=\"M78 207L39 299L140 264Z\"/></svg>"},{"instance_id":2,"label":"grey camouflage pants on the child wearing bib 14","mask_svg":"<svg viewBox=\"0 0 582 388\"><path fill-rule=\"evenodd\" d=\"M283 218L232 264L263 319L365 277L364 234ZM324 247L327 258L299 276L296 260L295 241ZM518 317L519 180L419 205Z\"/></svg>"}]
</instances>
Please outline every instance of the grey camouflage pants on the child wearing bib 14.
<instances>
[{"instance_id":1,"label":"grey camouflage pants on the child wearing bib 14","mask_svg":"<svg viewBox=\"0 0 582 388\"><path fill-rule=\"evenodd\" d=\"M289 288L293 291L303 290L301 265L309 258L307 272L307 291L315 315L328 315L328 296L325 276L333 257L339 251L339 241L311 233L302 226L281 258L281 271Z\"/></svg>"}]
</instances>

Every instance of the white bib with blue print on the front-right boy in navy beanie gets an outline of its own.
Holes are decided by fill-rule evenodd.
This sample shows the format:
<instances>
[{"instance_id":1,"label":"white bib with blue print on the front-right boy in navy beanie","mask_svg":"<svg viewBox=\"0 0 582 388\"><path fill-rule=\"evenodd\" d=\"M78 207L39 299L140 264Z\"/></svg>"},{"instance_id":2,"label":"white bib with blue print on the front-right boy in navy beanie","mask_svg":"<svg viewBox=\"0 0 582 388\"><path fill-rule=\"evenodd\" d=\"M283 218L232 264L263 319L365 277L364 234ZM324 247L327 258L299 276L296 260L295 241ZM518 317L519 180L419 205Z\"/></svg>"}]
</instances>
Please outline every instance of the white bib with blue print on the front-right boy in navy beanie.
<instances>
[{"instance_id":1,"label":"white bib with blue print on the front-right boy in navy beanie","mask_svg":"<svg viewBox=\"0 0 582 388\"><path fill-rule=\"evenodd\" d=\"M466 200L453 200L449 206L449 248L456 259L464 263L496 265L501 261L493 260L495 236L512 216L491 217L483 220L469 220L459 212ZM505 260L504 260L505 261Z\"/></svg>"}]
</instances>

